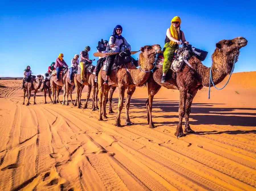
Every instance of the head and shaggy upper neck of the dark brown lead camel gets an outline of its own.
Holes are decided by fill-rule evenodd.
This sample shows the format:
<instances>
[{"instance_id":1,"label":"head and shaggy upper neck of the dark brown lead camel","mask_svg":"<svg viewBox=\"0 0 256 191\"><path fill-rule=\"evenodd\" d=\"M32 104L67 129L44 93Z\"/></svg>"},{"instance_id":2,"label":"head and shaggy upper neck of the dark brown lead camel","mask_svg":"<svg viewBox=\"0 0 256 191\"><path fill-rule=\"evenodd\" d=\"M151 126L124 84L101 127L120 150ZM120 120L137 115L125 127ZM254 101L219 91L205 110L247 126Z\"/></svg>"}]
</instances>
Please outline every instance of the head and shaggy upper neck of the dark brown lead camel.
<instances>
[{"instance_id":1,"label":"head and shaggy upper neck of the dark brown lead camel","mask_svg":"<svg viewBox=\"0 0 256 191\"><path fill-rule=\"evenodd\" d=\"M222 40L216 43L216 49L212 54L212 60L216 68L223 68L227 74L231 72L233 64L237 62L240 48L247 45L244 37L232 40Z\"/></svg>"}]
</instances>

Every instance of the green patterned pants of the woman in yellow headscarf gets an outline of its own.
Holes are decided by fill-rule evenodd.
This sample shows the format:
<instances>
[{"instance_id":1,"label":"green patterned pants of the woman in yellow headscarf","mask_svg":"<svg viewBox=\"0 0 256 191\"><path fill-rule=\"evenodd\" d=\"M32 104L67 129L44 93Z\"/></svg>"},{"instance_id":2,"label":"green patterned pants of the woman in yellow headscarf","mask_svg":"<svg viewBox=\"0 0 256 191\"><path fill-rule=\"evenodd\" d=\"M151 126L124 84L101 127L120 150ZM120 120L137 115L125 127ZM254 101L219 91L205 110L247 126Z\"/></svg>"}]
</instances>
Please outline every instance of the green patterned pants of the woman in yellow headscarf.
<instances>
[{"instance_id":1,"label":"green patterned pants of the woman in yellow headscarf","mask_svg":"<svg viewBox=\"0 0 256 191\"><path fill-rule=\"evenodd\" d=\"M170 65L171 65L171 61L173 60L173 53L178 48L179 48L178 44L174 44L174 45L170 46L170 43L165 43L165 45L163 47L163 57L164 57L163 73L168 72Z\"/></svg>"}]
</instances>

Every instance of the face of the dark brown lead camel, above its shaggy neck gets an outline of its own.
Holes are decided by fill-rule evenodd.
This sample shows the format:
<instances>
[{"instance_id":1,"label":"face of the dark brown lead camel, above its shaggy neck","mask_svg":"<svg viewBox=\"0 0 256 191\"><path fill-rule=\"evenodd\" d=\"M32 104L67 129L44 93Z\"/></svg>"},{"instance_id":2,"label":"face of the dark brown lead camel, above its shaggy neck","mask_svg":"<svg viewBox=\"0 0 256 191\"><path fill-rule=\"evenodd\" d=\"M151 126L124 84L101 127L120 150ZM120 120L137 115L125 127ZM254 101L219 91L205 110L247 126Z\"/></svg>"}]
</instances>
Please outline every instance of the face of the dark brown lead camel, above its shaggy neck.
<instances>
[{"instance_id":1,"label":"face of the dark brown lead camel, above its shaggy neck","mask_svg":"<svg viewBox=\"0 0 256 191\"><path fill-rule=\"evenodd\" d=\"M235 54L237 48L240 49L247 45L247 40L244 37L237 37L232 40L222 40L216 43L216 48L224 55Z\"/></svg>"}]
</instances>

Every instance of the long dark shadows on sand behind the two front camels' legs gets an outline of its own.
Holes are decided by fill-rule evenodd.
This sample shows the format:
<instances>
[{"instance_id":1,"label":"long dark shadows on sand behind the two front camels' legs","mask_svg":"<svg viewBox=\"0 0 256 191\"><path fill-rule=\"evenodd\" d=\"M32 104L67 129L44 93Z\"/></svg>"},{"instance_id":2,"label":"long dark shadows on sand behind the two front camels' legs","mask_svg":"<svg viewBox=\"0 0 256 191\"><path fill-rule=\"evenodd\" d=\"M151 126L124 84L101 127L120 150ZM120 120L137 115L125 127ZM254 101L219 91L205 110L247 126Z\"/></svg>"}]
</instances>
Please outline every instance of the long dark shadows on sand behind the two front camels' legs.
<instances>
[{"instance_id":1,"label":"long dark shadows on sand behind the two front camels' legs","mask_svg":"<svg viewBox=\"0 0 256 191\"><path fill-rule=\"evenodd\" d=\"M179 101L168 101L160 100L163 98L154 98L153 101L153 118L166 118L165 122L154 122L156 126L162 125L171 125L176 126L177 121L168 121L169 118L178 118L178 109ZM125 99L124 99L125 101ZM144 118L147 119L146 111L146 101L147 99L142 98L132 98L130 104L130 118ZM118 105L118 98L113 98L112 105L115 107ZM222 105L222 107L216 107ZM191 107L190 121L191 125L230 125L230 126L243 126L243 127L255 127L256 121L256 108L224 108L225 104L223 103L193 103ZM143 109L144 111L132 111L133 109ZM243 112L239 112L243 110ZM246 111L247 112L246 112ZM249 113L253 111L254 113ZM159 115L161 112L175 112L173 115ZM142 116L132 116L133 113L144 113ZM158 116L155 116L154 113L158 113ZM239 116L240 115L240 116ZM246 116L247 115L247 116ZM185 119L183 119L184 125ZM146 125L143 123L142 125ZM236 130L236 131L202 131L197 132L196 134L246 134L246 133L256 133L256 130Z\"/></svg>"}]
</instances>

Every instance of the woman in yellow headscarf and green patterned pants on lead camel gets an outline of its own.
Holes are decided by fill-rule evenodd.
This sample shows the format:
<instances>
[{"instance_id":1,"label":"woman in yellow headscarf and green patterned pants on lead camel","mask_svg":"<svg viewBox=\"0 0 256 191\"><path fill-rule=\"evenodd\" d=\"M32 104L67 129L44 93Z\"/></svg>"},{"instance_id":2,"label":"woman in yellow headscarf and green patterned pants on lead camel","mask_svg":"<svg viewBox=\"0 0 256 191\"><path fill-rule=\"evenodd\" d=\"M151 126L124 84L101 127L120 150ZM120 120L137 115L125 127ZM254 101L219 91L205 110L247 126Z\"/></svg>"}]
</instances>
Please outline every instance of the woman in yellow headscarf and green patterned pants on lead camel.
<instances>
[{"instance_id":1,"label":"woman in yellow headscarf and green patterned pants on lead camel","mask_svg":"<svg viewBox=\"0 0 256 191\"><path fill-rule=\"evenodd\" d=\"M161 83L166 81L166 73L168 72L171 61L173 60L174 51L179 48L179 44L181 44L180 40L183 43L189 44L185 39L185 35L181 28L181 18L178 16L173 17L171 20L171 26L166 31L165 45L163 47L163 76Z\"/></svg>"}]
</instances>

